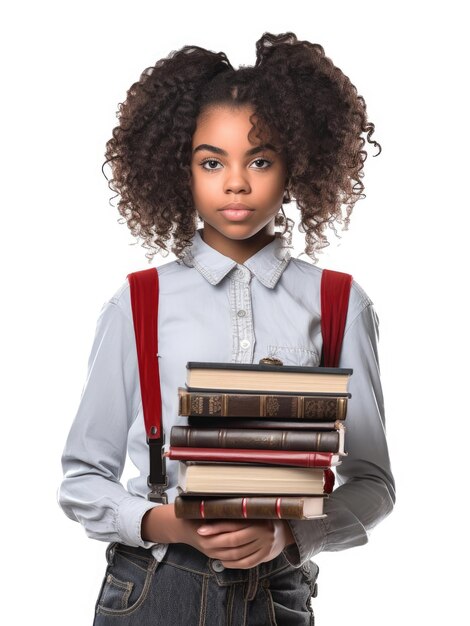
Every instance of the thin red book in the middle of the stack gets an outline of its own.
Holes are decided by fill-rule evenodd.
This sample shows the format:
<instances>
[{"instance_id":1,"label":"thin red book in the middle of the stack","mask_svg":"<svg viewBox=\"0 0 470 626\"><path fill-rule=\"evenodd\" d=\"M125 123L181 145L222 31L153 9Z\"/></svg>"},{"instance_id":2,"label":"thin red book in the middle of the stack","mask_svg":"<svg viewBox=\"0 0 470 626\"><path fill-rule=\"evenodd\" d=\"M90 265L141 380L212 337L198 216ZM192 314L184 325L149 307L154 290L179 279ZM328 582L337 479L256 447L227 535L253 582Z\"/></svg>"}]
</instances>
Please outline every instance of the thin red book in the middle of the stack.
<instances>
[{"instance_id":1,"label":"thin red book in the middle of the stack","mask_svg":"<svg viewBox=\"0 0 470 626\"><path fill-rule=\"evenodd\" d=\"M214 461L225 463L263 463L295 467L331 467L336 465L331 452L291 450L247 450L235 448L170 447L165 456L173 461Z\"/></svg>"}]
</instances>

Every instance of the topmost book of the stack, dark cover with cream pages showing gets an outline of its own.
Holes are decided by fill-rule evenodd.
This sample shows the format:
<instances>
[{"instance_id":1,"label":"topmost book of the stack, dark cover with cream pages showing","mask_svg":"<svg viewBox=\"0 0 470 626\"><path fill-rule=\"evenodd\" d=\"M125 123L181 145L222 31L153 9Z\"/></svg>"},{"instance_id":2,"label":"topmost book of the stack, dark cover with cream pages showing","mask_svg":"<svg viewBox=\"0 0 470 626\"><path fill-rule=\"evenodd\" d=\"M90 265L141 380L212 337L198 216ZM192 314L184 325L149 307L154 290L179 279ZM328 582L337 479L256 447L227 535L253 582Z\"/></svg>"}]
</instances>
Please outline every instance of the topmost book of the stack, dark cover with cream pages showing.
<instances>
[{"instance_id":1,"label":"topmost book of the stack, dark cover with cream pages showing","mask_svg":"<svg viewBox=\"0 0 470 626\"><path fill-rule=\"evenodd\" d=\"M339 394L347 392L351 374L352 369L339 367L189 361L186 386L193 391Z\"/></svg>"}]
</instances>

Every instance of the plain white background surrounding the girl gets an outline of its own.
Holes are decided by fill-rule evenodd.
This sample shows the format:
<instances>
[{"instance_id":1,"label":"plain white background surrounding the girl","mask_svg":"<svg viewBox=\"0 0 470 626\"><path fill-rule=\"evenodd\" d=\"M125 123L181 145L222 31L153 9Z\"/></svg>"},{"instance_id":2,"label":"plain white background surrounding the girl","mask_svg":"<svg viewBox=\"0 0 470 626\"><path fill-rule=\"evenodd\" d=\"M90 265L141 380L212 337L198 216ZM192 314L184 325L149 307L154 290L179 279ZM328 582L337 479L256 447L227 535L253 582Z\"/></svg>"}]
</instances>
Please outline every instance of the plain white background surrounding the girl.
<instances>
[{"instance_id":1,"label":"plain white background surrounding the girl","mask_svg":"<svg viewBox=\"0 0 470 626\"><path fill-rule=\"evenodd\" d=\"M397 505L368 545L317 557L317 624L463 623L464 3L166 4L17 1L1 16L0 558L2 593L16 607L8 623L91 624L104 574L105 544L65 517L56 490L101 306L129 272L149 267L101 173L117 105L144 68L183 45L253 64L263 32L289 30L322 44L351 78L383 146L366 163L367 197L350 231L319 264L352 273L380 317ZM301 244L296 233L297 254Z\"/></svg>"}]
</instances>

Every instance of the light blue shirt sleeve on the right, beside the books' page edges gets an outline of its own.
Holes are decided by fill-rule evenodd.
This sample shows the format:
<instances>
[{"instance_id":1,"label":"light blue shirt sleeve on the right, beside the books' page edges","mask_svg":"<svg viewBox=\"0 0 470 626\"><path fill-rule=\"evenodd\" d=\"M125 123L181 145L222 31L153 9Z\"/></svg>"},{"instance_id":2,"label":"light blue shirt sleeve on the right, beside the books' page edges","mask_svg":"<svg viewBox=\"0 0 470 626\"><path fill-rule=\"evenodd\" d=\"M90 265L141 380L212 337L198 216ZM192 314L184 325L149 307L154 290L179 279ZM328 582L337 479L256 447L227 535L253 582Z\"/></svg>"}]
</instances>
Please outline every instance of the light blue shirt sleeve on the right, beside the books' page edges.
<instances>
[{"instance_id":1,"label":"light blue shirt sleeve on the right, beside the books' page edges","mask_svg":"<svg viewBox=\"0 0 470 626\"><path fill-rule=\"evenodd\" d=\"M346 451L336 468L337 488L325 501L326 518L292 520L295 539L285 549L298 567L321 551L367 543L368 531L395 503L395 482L385 437L385 416L377 353L378 318L369 301L347 324L340 367L353 369L346 418Z\"/></svg>"}]
</instances>

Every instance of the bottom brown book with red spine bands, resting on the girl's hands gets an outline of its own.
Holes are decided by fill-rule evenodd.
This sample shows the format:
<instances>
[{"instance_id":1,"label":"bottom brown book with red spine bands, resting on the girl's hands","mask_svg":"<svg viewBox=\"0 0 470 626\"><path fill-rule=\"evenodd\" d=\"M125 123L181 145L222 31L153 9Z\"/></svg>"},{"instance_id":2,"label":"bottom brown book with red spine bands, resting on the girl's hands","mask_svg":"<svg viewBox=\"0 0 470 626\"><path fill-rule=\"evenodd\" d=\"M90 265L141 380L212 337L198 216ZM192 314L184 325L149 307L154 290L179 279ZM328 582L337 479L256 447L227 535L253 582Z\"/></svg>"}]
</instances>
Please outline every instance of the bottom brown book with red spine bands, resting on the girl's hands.
<instances>
[{"instance_id":1,"label":"bottom brown book with red spine bands, resting on the girl's hands","mask_svg":"<svg viewBox=\"0 0 470 626\"><path fill-rule=\"evenodd\" d=\"M175 516L180 519L312 519L325 517L323 502L326 497L198 498L177 496Z\"/></svg>"}]
</instances>

